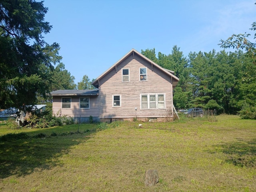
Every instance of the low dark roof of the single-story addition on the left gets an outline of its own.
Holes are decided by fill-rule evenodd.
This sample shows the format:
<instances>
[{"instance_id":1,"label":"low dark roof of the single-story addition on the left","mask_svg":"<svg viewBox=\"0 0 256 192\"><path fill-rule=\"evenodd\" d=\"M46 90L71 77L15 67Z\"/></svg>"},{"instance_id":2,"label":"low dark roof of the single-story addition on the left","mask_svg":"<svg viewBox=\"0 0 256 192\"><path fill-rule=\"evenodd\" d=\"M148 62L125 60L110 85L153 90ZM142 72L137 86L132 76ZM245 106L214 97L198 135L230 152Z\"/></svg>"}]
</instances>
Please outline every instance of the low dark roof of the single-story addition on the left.
<instances>
[{"instance_id":1,"label":"low dark roof of the single-story addition on the left","mask_svg":"<svg viewBox=\"0 0 256 192\"><path fill-rule=\"evenodd\" d=\"M89 90L56 90L50 92L52 96L92 96L99 95L98 89Z\"/></svg>"}]
</instances>

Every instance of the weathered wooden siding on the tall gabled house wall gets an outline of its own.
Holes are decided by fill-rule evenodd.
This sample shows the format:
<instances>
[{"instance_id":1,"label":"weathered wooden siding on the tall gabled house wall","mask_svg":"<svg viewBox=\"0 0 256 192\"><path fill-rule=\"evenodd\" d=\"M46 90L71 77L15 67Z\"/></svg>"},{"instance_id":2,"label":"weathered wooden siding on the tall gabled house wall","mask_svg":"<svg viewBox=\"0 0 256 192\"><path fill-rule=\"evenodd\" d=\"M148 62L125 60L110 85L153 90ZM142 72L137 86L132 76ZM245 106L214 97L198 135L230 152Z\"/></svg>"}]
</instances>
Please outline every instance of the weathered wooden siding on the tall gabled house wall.
<instances>
[{"instance_id":1,"label":"weathered wooden siding on the tall gabled house wall","mask_svg":"<svg viewBox=\"0 0 256 192\"><path fill-rule=\"evenodd\" d=\"M147 67L148 81L139 81L139 68ZM130 69L130 82L122 82L122 68ZM117 71L116 71L117 70ZM166 117L172 110L171 77L137 54L123 60L100 79L100 118ZM140 94L165 93L165 110L140 110ZM112 95L121 95L121 107L112 107ZM137 110L135 111L135 108ZM136 112L136 114L135 114Z\"/></svg>"}]
</instances>

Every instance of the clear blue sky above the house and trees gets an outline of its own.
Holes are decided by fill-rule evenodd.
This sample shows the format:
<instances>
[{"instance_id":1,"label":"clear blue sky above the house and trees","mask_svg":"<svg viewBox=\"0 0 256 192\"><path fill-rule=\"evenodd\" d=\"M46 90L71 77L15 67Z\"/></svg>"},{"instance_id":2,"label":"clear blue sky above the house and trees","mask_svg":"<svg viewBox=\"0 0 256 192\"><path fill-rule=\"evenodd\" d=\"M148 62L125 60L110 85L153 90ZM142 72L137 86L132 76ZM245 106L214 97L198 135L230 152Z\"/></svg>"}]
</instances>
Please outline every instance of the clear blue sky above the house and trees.
<instances>
[{"instance_id":1,"label":"clear blue sky above the house and trees","mask_svg":"<svg viewBox=\"0 0 256 192\"><path fill-rule=\"evenodd\" d=\"M222 50L220 39L251 31L255 0L44 0L65 68L80 82L97 78L132 48L171 54ZM251 33L254 35L254 33Z\"/></svg>"}]
</instances>

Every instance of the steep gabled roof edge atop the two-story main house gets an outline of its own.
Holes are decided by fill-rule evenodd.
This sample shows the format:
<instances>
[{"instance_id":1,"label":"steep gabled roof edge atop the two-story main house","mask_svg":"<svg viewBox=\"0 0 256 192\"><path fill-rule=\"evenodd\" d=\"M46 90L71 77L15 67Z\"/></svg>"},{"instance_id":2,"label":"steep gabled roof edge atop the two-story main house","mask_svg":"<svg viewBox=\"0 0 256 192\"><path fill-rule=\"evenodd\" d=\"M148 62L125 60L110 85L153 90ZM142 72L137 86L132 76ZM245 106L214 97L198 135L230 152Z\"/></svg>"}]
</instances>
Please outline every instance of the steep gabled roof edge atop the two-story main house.
<instances>
[{"instance_id":1,"label":"steep gabled roof edge atop the two-story main house","mask_svg":"<svg viewBox=\"0 0 256 192\"><path fill-rule=\"evenodd\" d=\"M157 67L158 69L162 70L162 72L168 74L170 77L172 77L172 80L174 81L179 81L179 78L176 77L173 73L173 71L168 70L168 69L164 69L161 66L159 66L158 64L156 64L155 62L153 62L152 60L150 60L149 58L147 58L146 56L142 55L140 52L138 52L137 50L133 49L130 50L127 54L125 54L120 60L118 60L115 64L113 64L110 68L108 68L108 70L106 70L104 73L102 73L100 76L98 76L98 78L96 78L93 82L92 85L96 86L99 82L99 80L104 77L106 74L108 74L108 72L110 72L112 69L116 68L116 66L118 66L118 64L120 64L122 61L124 61L126 58L128 58L128 56L130 56L131 54L136 53L138 56L142 57L144 60L146 60L147 62L151 63L152 66Z\"/></svg>"}]
</instances>

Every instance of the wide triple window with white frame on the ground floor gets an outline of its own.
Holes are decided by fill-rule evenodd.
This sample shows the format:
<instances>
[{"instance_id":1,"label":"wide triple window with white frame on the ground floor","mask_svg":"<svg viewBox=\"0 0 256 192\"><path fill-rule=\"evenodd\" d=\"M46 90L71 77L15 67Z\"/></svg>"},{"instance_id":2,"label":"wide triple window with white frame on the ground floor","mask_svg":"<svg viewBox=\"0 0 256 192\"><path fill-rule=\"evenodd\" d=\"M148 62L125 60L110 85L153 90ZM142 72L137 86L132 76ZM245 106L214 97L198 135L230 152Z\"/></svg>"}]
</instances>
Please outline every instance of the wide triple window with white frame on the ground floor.
<instances>
[{"instance_id":1,"label":"wide triple window with white frame on the ground floor","mask_svg":"<svg viewBox=\"0 0 256 192\"><path fill-rule=\"evenodd\" d=\"M141 109L165 109L165 94L140 94Z\"/></svg>"}]
</instances>

